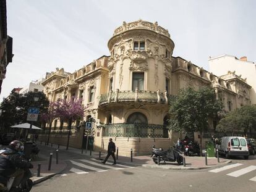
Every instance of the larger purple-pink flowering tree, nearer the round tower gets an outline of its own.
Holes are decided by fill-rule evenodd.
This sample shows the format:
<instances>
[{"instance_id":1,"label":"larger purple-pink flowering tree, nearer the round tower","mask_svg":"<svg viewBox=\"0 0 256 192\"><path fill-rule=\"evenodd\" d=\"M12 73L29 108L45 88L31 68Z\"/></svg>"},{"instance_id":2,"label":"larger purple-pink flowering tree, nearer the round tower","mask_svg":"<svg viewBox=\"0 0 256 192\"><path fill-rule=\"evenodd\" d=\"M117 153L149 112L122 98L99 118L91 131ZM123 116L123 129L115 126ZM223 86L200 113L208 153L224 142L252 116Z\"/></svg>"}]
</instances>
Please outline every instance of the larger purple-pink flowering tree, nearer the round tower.
<instances>
[{"instance_id":1,"label":"larger purple-pink flowering tree, nearer the round tower","mask_svg":"<svg viewBox=\"0 0 256 192\"><path fill-rule=\"evenodd\" d=\"M69 149L69 138L72 121L82 118L85 108L82 105L82 100L75 100L75 98L71 98L69 101L58 99L54 105L56 107L56 117L66 121L68 124L69 135L67 137L66 149Z\"/></svg>"}]
</instances>

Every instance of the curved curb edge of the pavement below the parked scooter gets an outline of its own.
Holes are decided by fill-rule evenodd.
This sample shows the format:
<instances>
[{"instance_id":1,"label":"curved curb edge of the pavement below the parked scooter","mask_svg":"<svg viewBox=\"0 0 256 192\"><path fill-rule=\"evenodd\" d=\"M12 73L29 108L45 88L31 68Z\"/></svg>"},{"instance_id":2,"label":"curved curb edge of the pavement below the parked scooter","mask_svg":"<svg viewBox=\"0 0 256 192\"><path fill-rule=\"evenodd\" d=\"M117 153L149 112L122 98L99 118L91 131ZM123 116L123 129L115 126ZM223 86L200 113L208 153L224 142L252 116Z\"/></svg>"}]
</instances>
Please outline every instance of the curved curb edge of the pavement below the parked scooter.
<instances>
[{"instance_id":1,"label":"curved curb edge of the pavement below the parked scooter","mask_svg":"<svg viewBox=\"0 0 256 192\"><path fill-rule=\"evenodd\" d=\"M164 165L148 165L148 164L143 164L142 167L147 167L147 168L153 168L153 169L168 169L168 170L200 170L200 169L208 169L208 168L213 168L213 167L221 167L225 164L229 164L232 161L226 161L221 165L209 165L208 167L203 166L203 167L165 167Z\"/></svg>"}]
</instances>

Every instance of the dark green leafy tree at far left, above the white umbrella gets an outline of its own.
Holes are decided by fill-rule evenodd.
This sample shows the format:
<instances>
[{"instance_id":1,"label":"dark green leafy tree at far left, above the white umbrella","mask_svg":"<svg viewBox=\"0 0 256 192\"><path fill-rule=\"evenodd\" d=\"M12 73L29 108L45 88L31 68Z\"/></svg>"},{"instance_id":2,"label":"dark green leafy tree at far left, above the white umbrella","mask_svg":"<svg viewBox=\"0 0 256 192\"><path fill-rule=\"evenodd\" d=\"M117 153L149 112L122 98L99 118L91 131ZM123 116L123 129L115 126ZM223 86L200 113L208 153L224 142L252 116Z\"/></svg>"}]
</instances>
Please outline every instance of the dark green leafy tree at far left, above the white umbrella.
<instances>
[{"instance_id":1,"label":"dark green leafy tree at far left, above the white umbrella","mask_svg":"<svg viewBox=\"0 0 256 192\"><path fill-rule=\"evenodd\" d=\"M38 101L34 101L34 97L38 97ZM0 117L4 127L10 127L18 123L27 122L27 112L29 107L38 107L41 112L45 112L48 109L49 101L43 92L28 92L24 95L12 93L4 98L0 104L2 115ZM40 122L35 122L35 125L40 126Z\"/></svg>"}]
</instances>

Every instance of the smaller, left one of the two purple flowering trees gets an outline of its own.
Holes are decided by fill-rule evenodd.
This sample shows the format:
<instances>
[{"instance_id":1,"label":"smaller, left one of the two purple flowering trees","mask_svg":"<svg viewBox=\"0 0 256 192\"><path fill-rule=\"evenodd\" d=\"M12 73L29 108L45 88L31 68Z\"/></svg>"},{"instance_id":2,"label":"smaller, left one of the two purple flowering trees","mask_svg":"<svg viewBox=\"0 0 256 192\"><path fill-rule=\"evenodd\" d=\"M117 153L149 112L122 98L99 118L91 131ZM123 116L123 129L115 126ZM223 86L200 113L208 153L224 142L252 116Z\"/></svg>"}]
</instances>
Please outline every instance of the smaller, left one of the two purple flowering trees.
<instances>
[{"instance_id":1,"label":"smaller, left one of the two purple flowering trees","mask_svg":"<svg viewBox=\"0 0 256 192\"><path fill-rule=\"evenodd\" d=\"M41 114L41 120L44 122L47 122L49 124L49 133L47 138L47 145L49 144L49 136L51 134L51 124L53 123L53 120L56 119L56 103L50 102L49 107L46 112Z\"/></svg>"}]
</instances>

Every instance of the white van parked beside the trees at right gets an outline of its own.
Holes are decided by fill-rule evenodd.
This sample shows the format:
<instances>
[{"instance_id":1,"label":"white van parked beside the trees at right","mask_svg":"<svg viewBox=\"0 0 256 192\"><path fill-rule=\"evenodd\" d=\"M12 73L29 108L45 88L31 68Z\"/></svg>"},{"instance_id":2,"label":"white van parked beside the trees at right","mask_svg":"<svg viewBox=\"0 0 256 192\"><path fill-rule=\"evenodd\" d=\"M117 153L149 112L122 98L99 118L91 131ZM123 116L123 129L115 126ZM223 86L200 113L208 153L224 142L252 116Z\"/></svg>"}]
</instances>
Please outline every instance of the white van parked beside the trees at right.
<instances>
[{"instance_id":1,"label":"white van parked beside the trees at right","mask_svg":"<svg viewBox=\"0 0 256 192\"><path fill-rule=\"evenodd\" d=\"M247 142L241 136L223 136L220 144L216 144L216 148L226 158L230 156L244 156L244 159L248 159L249 157Z\"/></svg>"}]
</instances>

